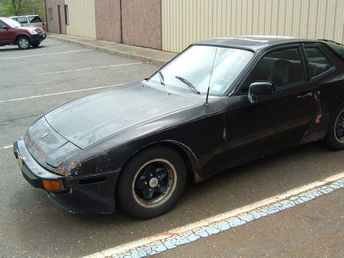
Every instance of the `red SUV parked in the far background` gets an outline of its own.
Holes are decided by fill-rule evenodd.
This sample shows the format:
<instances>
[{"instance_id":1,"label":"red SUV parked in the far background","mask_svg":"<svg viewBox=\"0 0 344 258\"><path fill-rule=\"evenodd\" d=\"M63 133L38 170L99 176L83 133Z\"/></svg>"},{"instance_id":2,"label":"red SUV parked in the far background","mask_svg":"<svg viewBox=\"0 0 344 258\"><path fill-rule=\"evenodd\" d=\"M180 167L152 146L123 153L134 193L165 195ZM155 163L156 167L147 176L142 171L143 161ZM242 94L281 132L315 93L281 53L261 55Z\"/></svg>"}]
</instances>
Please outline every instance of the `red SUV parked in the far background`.
<instances>
[{"instance_id":1,"label":"red SUV parked in the far background","mask_svg":"<svg viewBox=\"0 0 344 258\"><path fill-rule=\"evenodd\" d=\"M0 46L18 45L21 50L38 47L45 40L45 32L39 27L22 26L10 18L0 17Z\"/></svg>"}]
</instances>

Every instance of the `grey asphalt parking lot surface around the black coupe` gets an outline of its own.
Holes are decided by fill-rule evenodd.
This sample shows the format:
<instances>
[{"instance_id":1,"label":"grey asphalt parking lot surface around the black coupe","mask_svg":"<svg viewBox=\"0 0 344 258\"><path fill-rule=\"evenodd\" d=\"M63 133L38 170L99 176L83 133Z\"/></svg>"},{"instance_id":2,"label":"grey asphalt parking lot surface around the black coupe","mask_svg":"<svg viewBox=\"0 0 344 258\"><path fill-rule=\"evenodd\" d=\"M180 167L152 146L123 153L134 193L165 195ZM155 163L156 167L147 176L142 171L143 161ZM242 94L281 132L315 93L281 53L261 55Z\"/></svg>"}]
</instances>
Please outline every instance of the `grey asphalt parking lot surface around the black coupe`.
<instances>
[{"instance_id":1,"label":"grey asphalt parking lot surface around the black coupe","mask_svg":"<svg viewBox=\"0 0 344 258\"><path fill-rule=\"evenodd\" d=\"M319 143L305 144L224 171L200 184L190 182L172 211L149 220L127 217L120 210L112 215L69 214L25 182L11 145L35 118L74 98L146 78L157 68L49 38L37 49L0 48L0 257L82 257L343 173L343 151L332 152ZM283 247L290 251L286 256L340 257L344 246L343 197L340 189L290 208L288 213L281 211L275 221L265 218L259 224L250 222L245 228L228 230L201 244L196 241L160 256L279 256L284 250L279 243L291 241L292 245ZM273 228L272 237L257 233L272 230L276 220L285 225L283 234L281 227ZM293 237L296 231L304 237ZM233 252L237 246L232 239L243 252ZM296 248L297 244L304 248ZM326 252L319 249L321 244ZM306 252L312 245L319 251Z\"/></svg>"}]
</instances>

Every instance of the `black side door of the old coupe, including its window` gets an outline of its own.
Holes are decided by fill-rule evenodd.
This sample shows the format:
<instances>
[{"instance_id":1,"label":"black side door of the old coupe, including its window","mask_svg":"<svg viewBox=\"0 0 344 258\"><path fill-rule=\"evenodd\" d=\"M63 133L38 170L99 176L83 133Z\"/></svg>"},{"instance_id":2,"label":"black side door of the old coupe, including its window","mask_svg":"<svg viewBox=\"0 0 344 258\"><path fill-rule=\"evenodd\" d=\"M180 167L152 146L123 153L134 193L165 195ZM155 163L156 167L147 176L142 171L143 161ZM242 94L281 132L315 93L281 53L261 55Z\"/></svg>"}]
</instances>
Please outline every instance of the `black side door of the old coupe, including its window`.
<instances>
[{"instance_id":1,"label":"black side door of the old coupe, including its window","mask_svg":"<svg viewBox=\"0 0 344 258\"><path fill-rule=\"evenodd\" d=\"M297 144L310 125L314 90L306 76L300 45L279 47L261 55L226 107L227 153L231 162L274 153ZM248 100L251 83L269 81L275 93Z\"/></svg>"}]
</instances>

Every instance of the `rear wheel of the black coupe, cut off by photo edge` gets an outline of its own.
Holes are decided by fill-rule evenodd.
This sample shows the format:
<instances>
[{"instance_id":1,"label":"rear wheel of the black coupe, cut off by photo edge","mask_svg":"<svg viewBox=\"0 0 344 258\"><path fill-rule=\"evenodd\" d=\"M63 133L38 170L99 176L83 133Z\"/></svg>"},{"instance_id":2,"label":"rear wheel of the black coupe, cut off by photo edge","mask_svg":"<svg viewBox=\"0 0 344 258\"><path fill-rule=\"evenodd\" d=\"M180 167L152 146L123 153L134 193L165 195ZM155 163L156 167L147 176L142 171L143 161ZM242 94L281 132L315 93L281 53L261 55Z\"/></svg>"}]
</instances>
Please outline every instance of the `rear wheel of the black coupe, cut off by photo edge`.
<instances>
[{"instance_id":1,"label":"rear wheel of the black coupe, cut off by photo edge","mask_svg":"<svg viewBox=\"0 0 344 258\"><path fill-rule=\"evenodd\" d=\"M344 149L344 102L334 111L327 129L325 142L334 151Z\"/></svg>"}]
</instances>

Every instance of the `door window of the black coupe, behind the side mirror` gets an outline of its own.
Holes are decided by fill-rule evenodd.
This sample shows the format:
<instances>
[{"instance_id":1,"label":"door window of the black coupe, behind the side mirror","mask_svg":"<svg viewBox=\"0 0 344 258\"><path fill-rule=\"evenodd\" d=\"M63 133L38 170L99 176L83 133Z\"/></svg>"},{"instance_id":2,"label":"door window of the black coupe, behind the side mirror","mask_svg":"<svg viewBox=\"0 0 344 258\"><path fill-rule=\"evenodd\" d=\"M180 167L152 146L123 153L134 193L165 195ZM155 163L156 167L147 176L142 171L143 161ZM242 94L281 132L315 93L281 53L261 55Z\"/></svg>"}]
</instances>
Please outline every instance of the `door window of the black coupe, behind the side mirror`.
<instances>
[{"instance_id":1,"label":"door window of the black coupe, behind the side mirror","mask_svg":"<svg viewBox=\"0 0 344 258\"><path fill-rule=\"evenodd\" d=\"M239 94L248 94L252 83L269 81L276 89L305 80L299 48L292 47L266 54L252 70Z\"/></svg>"}]
</instances>

